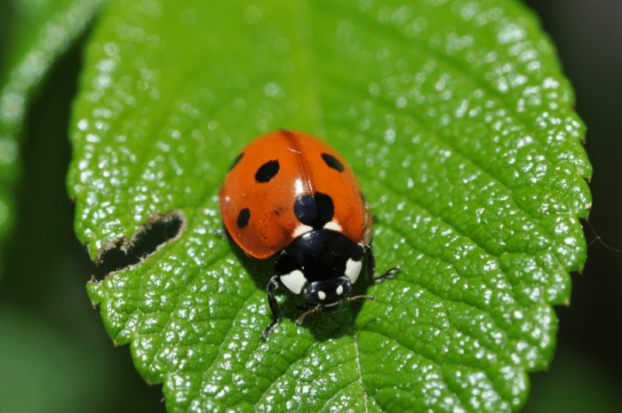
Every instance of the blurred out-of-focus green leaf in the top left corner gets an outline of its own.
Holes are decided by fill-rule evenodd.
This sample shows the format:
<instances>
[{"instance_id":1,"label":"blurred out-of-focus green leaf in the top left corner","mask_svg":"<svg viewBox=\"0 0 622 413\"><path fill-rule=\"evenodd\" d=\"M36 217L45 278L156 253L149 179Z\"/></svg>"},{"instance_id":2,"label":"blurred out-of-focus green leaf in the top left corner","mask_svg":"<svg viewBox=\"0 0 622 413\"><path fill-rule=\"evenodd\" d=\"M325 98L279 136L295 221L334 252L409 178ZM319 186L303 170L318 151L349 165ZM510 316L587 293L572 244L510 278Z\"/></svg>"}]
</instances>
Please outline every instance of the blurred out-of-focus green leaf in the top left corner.
<instances>
[{"instance_id":1,"label":"blurred out-of-focus green leaf in the top left corner","mask_svg":"<svg viewBox=\"0 0 622 413\"><path fill-rule=\"evenodd\" d=\"M16 222L20 140L28 104L53 63L76 41L102 0L14 2L15 14L0 70L0 250ZM0 273L3 258L0 257Z\"/></svg>"}]
</instances>

